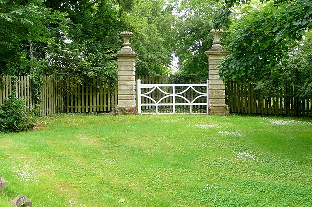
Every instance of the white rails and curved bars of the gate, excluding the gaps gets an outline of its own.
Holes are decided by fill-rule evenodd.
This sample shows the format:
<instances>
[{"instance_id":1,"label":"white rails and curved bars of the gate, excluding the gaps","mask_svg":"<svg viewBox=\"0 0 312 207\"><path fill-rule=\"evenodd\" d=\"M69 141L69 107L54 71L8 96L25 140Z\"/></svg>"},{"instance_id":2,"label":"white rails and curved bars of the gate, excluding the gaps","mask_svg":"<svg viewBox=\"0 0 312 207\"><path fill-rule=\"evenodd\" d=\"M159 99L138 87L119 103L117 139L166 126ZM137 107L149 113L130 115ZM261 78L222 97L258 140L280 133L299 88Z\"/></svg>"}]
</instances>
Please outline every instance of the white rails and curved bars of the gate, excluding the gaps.
<instances>
[{"instance_id":1,"label":"white rails and curved bars of the gate, excluding the gaps","mask_svg":"<svg viewBox=\"0 0 312 207\"><path fill-rule=\"evenodd\" d=\"M206 87L206 93L200 92L196 90L194 87L201 86ZM162 90L162 87L171 87L172 90ZM185 90L176 93L176 87L187 87ZM149 88L148 92L142 93L142 89ZM159 90L163 97L159 100L153 99L153 97L149 96L155 90ZM186 97L182 96L188 90L193 90L195 93L199 94L193 100L189 100ZM168 91L172 91L169 93ZM142 103L142 98L147 98L151 100L152 103ZM170 103L162 103L163 100L166 98L170 98ZM185 100L185 103L176 103L176 97L179 97ZM198 103L196 100L199 100L202 97L206 97L206 103ZM189 113L192 113L192 106L206 106L206 113L192 113L192 114L208 114L209 113L209 81L207 80L206 84L141 84L141 80L137 80L137 113L142 114L142 106L155 106L156 107L156 114L158 114L158 107L159 106L172 106L172 112L175 113L175 106L189 106ZM168 100L168 99L167 99ZM143 113L144 114L144 113Z\"/></svg>"}]
</instances>

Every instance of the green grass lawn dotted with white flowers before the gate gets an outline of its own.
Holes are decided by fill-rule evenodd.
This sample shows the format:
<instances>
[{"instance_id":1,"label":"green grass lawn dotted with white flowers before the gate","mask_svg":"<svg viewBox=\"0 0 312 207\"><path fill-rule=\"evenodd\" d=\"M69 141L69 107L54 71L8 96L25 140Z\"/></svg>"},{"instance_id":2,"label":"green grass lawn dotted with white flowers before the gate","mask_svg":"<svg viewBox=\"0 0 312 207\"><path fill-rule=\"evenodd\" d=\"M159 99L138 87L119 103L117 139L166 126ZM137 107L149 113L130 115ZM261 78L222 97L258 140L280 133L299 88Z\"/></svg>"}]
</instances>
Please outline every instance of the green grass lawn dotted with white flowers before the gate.
<instances>
[{"instance_id":1,"label":"green grass lawn dotted with white flowers before the gate","mask_svg":"<svg viewBox=\"0 0 312 207\"><path fill-rule=\"evenodd\" d=\"M59 114L0 134L0 207L310 207L312 120Z\"/></svg>"}]
</instances>

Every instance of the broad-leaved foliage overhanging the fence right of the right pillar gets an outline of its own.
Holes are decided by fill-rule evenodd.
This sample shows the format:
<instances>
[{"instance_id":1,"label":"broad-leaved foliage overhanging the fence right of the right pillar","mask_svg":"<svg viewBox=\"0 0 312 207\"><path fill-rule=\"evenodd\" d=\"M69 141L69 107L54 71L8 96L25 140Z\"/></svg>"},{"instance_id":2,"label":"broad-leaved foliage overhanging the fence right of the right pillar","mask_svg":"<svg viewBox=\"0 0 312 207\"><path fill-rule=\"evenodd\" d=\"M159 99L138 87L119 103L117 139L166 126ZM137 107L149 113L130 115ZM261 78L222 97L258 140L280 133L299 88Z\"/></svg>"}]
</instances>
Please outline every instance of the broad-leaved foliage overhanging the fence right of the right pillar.
<instances>
[{"instance_id":1,"label":"broad-leaved foliage overhanging the fence right of the right pillar","mask_svg":"<svg viewBox=\"0 0 312 207\"><path fill-rule=\"evenodd\" d=\"M299 96L312 97L312 34L308 32L312 28L312 0L261 1L260 6L254 4L254 9L233 18L231 12L246 1L225 0L215 26L228 25L232 36L220 75L226 80L251 80L267 90L296 84L302 89Z\"/></svg>"}]
</instances>

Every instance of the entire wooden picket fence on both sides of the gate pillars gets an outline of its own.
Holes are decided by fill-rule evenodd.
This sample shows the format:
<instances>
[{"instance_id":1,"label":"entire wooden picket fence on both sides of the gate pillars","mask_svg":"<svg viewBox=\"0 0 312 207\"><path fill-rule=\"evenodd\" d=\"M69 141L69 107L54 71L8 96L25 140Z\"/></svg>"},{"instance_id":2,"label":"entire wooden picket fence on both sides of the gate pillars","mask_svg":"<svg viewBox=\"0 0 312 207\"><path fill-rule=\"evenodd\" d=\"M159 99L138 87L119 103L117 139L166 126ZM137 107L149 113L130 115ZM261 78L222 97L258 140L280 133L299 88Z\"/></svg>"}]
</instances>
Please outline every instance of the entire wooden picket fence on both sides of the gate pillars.
<instances>
[{"instance_id":1,"label":"entire wooden picket fence on both sides of the gate pillars","mask_svg":"<svg viewBox=\"0 0 312 207\"><path fill-rule=\"evenodd\" d=\"M138 76L136 79L140 79L142 84L171 83L168 76ZM31 76L5 76L0 80L0 104L15 90L16 97L24 99L26 106L35 107ZM117 106L117 83L110 86L101 83L97 78L84 84L75 84L69 79L66 84L60 83L56 77L44 77L39 103L40 115L59 112L109 112L114 111ZM295 96L296 87L293 86L286 85L278 93L265 95L260 90L255 90L251 83L228 81L225 91L230 113L312 116L312 98L299 100Z\"/></svg>"}]
</instances>

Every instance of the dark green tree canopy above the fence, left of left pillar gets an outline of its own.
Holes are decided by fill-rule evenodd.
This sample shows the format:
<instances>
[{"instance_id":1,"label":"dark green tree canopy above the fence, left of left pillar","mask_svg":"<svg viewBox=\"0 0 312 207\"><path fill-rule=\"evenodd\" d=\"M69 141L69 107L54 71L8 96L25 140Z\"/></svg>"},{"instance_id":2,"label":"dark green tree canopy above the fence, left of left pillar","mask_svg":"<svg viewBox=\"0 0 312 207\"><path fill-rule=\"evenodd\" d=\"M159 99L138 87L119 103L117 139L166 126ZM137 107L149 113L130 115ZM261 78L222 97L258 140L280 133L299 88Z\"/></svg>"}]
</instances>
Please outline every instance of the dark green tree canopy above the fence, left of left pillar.
<instances>
[{"instance_id":1,"label":"dark green tree canopy above the fence, left of left pillar","mask_svg":"<svg viewBox=\"0 0 312 207\"><path fill-rule=\"evenodd\" d=\"M116 77L132 0L0 0L0 75Z\"/></svg>"}]
</instances>

